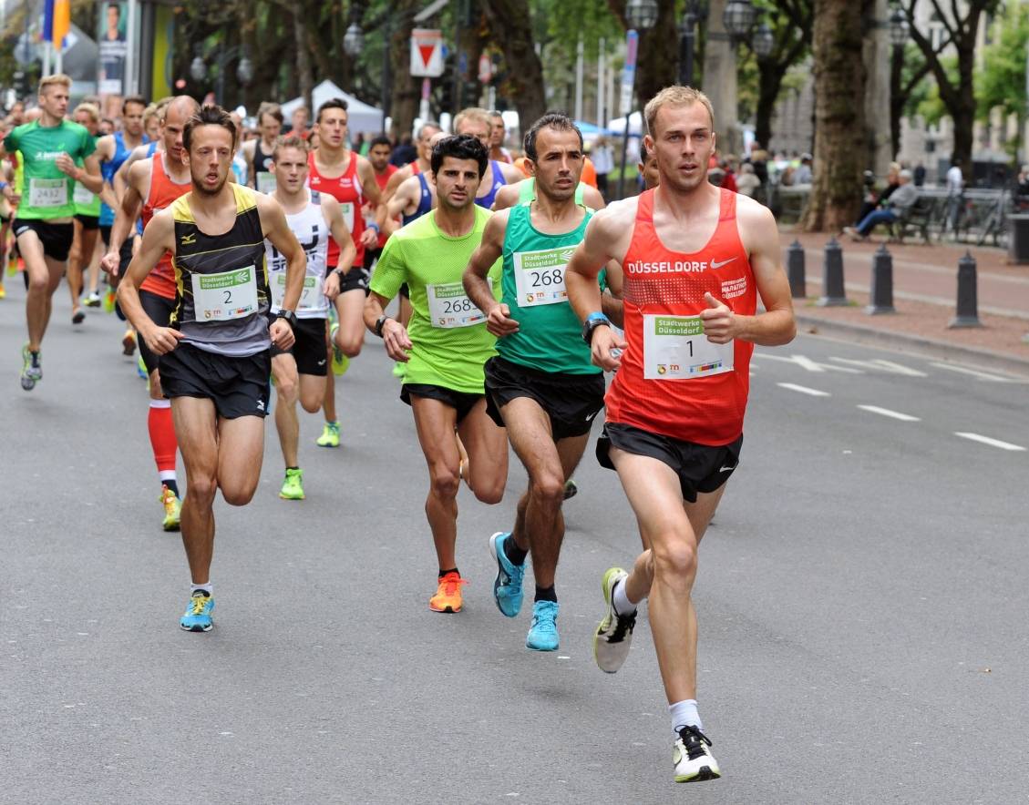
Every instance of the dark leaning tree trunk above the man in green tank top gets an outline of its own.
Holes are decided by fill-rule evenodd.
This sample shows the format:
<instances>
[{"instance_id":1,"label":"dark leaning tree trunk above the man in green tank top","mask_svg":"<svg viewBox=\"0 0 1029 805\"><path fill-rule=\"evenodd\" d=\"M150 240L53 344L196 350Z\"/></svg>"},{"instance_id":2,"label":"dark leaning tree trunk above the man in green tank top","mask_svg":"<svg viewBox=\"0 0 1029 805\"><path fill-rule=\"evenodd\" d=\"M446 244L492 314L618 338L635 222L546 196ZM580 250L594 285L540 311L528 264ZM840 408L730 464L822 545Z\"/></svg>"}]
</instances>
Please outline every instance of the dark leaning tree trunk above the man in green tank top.
<instances>
[{"instance_id":1,"label":"dark leaning tree trunk above the man in green tank top","mask_svg":"<svg viewBox=\"0 0 1029 805\"><path fill-rule=\"evenodd\" d=\"M536 56L528 0L485 0L483 6L493 30L504 32L498 44L507 66L511 100L525 132L546 111L543 67Z\"/></svg>"}]
</instances>

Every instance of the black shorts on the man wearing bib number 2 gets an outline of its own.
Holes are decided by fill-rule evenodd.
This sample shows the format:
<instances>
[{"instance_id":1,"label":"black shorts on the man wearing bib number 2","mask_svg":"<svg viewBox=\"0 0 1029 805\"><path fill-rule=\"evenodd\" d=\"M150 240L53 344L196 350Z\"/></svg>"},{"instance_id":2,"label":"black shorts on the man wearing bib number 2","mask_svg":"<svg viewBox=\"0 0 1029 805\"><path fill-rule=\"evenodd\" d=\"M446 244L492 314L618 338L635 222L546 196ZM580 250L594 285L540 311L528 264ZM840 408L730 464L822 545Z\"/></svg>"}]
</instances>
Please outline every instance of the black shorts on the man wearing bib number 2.
<instances>
[{"instance_id":1,"label":"black shorts on the man wearing bib number 2","mask_svg":"<svg viewBox=\"0 0 1029 805\"><path fill-rule=\"evenodd\" d=\"M246 358L229 358L179 343L161 356L161 389L165 397L199 397L214 401L218 416L267 416L272 357L264 350Z\"/></svg>"}]
</instances>

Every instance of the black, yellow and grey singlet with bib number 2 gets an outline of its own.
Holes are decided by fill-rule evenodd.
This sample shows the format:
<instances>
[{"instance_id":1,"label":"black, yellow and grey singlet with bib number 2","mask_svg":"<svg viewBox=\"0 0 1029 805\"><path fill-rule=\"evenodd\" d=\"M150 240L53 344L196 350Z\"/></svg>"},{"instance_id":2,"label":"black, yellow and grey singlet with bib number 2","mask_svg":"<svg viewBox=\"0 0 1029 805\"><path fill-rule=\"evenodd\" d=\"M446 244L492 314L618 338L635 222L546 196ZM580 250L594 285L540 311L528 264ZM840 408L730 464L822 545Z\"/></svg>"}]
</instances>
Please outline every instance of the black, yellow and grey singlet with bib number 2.
<instances>
[{"instance_id":1,"label":"black, yellow and grey singlet with bib number 2","mask_svg":"<svg viewBox=\"0 0 1029 805\"><path fill-rule=\"evenodd\" d=\"M172 205L175 219L175 312L172 326L182 340L229 357L255 355L271 346L270 294L264 233L253 190L229 185L236 223L224 234L201 231L189 209L192 193Z\"/></svg>"}]
</instances>

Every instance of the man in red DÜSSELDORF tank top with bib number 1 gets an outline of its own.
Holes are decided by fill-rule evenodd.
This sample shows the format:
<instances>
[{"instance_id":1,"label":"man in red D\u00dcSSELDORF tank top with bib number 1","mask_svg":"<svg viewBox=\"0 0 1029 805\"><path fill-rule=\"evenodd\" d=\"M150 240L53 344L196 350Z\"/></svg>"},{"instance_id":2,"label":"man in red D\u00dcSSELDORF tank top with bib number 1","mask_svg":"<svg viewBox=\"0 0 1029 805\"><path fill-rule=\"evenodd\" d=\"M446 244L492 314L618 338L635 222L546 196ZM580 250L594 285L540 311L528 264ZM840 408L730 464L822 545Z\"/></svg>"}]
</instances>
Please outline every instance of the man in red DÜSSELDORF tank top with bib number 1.
<instances>
[{"instance_id":1,"label":"man in red D\u00dcSSELDORF tank top with bib number 1","mask_svg":"<svg viewBox=\"0 0 1029 805\"><path fill-rule=\"evenodd\" d=\"M720 776L697 712L697 549L739 462L753 345L787 343L796 329L772 213L707 180L710 101L671 86L645 115L660 186L594 217L566 284L594 362L618 369L597 456L617 471L644 547L630 573L604 576L594 656L609 673L622 666L648 597L675 780L688 782ZM610 259L625 270L625 339L600 313L596 277Z\"/></svg>"}]
</instances>

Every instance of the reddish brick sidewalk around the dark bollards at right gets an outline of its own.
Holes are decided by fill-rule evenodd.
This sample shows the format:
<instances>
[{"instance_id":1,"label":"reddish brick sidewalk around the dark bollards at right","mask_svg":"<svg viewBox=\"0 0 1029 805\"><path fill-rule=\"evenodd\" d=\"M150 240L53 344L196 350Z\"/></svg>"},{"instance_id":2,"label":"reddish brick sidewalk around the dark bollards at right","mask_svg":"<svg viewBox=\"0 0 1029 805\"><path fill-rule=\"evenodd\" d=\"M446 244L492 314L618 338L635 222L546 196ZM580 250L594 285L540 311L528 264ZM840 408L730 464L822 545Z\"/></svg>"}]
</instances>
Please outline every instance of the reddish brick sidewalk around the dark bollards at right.
<instances>
[{"instance_id":1,"label":"reddish brick sidewalk around the dark bollards at right","mask_svg":"<svg viewBox=\"0 0 1029 805\"><path fill-rule=\"evenodd\" d=\"M1029 265L1008 265L1006 252L986 246L889 243L896 314L871 316L864 307L872 258L885 239L873 236L863 243L846 235L838 239L850 304L820 307L823 250L829 237L824 232L780 231L784 266L785 250L794 240L805 251L807 300L793 300L802 332L885 344L1029 376L1029 341L1023 340L1029 334ZM983 327L949 329L957 305L958 260L966 251L977 261Z\"/></svg>"}]
</instances>

